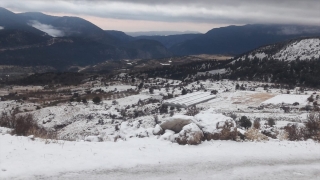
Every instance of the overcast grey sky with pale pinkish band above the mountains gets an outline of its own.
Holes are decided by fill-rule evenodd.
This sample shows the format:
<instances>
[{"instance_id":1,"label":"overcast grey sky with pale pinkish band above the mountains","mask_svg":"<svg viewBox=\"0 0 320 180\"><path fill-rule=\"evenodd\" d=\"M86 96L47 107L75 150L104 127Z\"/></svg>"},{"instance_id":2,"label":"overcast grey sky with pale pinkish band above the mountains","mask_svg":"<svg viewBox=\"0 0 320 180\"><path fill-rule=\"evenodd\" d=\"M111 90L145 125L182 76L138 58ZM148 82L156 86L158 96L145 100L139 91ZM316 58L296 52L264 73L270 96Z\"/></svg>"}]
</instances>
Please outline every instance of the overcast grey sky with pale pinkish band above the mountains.
<instances>
[{"instance_id":1,"label":"overcast grey sky with pale pinkish band above the mountains","mask_svg":"<svg viewBox=\"0 0 320 180\"><path fill-rule=\"evenodd\" d=\"M319 0L0 0L13 12L78 16L105 30L198 31L254 23L320 25Z\"/></svg>"}]
</instances>

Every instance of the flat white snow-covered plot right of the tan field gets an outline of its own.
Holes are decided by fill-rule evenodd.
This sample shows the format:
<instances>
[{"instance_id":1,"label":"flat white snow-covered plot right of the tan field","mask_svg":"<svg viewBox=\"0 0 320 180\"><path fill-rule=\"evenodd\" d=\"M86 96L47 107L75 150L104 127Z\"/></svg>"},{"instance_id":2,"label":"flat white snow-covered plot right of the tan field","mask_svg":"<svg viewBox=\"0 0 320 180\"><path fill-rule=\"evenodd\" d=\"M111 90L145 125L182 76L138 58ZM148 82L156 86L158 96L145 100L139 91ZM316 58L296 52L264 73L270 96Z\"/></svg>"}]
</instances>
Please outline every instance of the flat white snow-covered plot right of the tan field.
<instances>
[{"instance_id":1,"label":"flat white snow-covered plot right of the tan field","mask_svg":"<svg viewBox=\"0 0 320 180\"><path fill-rule=\"evenodd\" d=\"M261 104L274 104L274 105L278 105L278 104L293 104L295 102L298 102L300 105L307 105L308 104L308 97L310 97L310 95L291 95L291 94L281 94L281 95L277 95L273 98L270 98L264 102L262 102Z\"/></svg>"}]
</instances>

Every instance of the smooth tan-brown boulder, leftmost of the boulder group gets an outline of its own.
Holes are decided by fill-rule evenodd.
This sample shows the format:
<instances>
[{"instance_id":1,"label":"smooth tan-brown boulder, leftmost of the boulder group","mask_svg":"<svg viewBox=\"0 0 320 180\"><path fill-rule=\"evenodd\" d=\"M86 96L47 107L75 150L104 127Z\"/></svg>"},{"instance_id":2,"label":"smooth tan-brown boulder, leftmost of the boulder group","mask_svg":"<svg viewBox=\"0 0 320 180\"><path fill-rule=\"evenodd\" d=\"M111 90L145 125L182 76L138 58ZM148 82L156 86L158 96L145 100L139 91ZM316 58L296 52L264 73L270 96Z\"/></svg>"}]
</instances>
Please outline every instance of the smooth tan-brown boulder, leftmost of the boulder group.
<instances>
[{"instance_id":1,"label":"smooth tan-brown boulder, leftmost of the boulder group","mask_svg":"<svg viewBox=\"0 0 320 180\"><path fill-rule=\"evenodd\" d=\"M160 124L163 130L172 130L175 133L179 133L182 128L192 123L194 118L192 116L175 115L170 118L164 119L164 122Z\"/></svg>"}]
</instances>

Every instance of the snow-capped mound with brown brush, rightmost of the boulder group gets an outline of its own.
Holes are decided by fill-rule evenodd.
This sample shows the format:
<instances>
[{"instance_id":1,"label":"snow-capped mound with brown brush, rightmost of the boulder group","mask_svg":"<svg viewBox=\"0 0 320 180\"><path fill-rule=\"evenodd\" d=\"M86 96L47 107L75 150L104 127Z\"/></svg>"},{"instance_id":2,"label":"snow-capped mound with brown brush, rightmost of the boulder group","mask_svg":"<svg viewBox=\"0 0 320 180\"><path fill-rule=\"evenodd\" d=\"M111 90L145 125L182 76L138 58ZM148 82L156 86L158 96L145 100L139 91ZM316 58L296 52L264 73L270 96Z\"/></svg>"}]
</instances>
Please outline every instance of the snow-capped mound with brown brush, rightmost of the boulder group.
<instances>
[{"instance_id":1,"label":"snow-capped mound with brown brush, rightmost of the boulder group","mask_svg":"<svg viewBox=\"0 0 320 180\"><path fill-rule=\"evenodd\" d=\"M237 136L235 121L223 114L217 114L214 109L197 114L194 123L201 128L204 139L208 141L235 139Z\"/></svg>"}]
</instances>

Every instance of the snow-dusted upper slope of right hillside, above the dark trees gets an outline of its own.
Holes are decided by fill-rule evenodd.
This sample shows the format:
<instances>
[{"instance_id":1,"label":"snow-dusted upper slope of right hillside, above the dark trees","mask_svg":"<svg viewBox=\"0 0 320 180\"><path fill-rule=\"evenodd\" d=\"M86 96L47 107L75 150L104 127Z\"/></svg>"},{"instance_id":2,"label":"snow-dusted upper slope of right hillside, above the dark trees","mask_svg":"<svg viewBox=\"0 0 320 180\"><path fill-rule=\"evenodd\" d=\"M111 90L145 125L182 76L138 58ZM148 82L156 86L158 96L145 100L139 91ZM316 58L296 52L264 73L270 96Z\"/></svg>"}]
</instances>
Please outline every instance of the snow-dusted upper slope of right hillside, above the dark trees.
<instances>
[{"instance_id":1,"label":"snow-dusted upper slope of right hillside, above the dark trees","mask_svg":"<svg viewBox=\"0 0 320 180\"><path fill-rule=\"evenodd\" d=\"M308 38L279 43L258 48L236 60L277 59L284 61L312 60L320 57L320 38Z\"/></svg>"}]
</instances>

